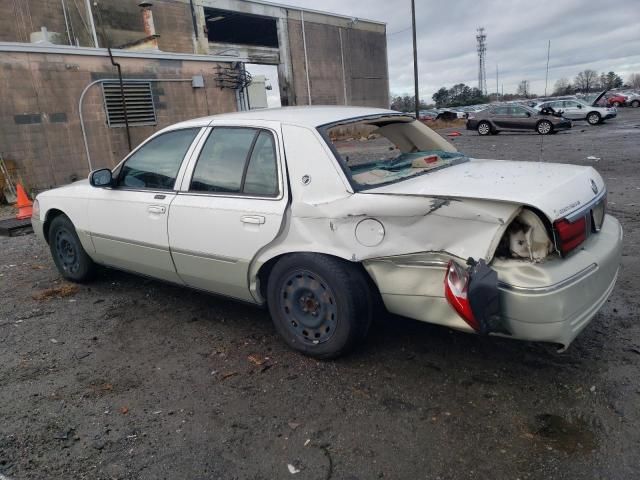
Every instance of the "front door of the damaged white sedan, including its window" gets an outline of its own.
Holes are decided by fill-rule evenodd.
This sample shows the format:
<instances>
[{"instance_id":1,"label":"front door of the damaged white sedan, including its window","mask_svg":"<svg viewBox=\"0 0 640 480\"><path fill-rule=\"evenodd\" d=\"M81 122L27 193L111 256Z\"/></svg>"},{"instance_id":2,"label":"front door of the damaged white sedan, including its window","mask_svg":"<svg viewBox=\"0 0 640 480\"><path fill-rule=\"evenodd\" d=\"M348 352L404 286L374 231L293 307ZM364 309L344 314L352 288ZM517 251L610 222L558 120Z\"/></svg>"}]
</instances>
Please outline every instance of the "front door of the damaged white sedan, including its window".
<instances>
[{"instance_id":1,"label":"front door of the damaged white sedan, including its window","mask_svg":"<svg viewBox=\"0 0 640 480\"><path fill-rule=\"evenodd\" d=\"M180 166L199 131L151 138L114 173L113 187L93 192L89 230L98 262L181 283L169 253L167 217Z\"/></svg>"}]
</instances>

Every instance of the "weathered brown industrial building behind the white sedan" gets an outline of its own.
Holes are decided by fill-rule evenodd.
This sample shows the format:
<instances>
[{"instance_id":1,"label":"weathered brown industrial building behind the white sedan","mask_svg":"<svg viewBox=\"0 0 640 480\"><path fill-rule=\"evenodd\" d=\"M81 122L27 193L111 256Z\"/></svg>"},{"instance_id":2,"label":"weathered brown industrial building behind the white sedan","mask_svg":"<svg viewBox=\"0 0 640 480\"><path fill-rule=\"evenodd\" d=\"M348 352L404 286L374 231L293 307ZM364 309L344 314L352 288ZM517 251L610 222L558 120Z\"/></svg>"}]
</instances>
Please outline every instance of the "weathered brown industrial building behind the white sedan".
<instances>
[{"instance_id":1,"label":"weathered brown industrial building behind the white sedan","mask_svg":"<svg viewBox=\"0 0 640 480\"><path fill-rule=\"evenodd\" d=\"M282 105L388 106L383 23L257 0L140 3L0 0L0 155L32 190L114 166L171 123L247 108L246 64L277 67Z\"/></svg>"}]
</instances>

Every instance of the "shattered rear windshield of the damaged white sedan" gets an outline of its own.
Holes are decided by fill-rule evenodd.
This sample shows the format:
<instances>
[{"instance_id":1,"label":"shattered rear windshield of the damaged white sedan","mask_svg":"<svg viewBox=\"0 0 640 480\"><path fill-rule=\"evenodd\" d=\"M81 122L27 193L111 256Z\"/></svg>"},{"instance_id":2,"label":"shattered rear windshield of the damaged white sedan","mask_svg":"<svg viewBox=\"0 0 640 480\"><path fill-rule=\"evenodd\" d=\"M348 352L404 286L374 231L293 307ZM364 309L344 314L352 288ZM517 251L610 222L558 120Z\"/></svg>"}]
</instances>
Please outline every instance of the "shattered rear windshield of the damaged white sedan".
<instances>
[{"instance_id":1,"label":"shattered rear windshield of the damaged white sedan","mask_svg":"<svg viewBox=\"0 0 640 480\"><path fill-rule=\"evenodd\" d=\"M375 119L320 129L355 190L385 185L468 161L422 122Z\"/></svg>"}]
</instances>

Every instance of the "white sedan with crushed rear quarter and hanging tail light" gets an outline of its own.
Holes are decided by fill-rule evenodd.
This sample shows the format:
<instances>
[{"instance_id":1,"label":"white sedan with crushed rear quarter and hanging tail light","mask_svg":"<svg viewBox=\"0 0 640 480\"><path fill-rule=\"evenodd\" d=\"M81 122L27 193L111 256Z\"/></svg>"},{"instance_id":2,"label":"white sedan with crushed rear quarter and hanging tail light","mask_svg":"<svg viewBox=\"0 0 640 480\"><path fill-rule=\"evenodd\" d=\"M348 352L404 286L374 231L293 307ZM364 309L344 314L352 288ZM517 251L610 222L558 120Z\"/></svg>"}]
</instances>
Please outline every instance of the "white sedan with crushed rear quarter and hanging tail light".
<instances>
[{"instance_id":1,"label":"white sedan with crushed rear quarter and hanging tail light","mask_svg":"<svg viewBox=\"0 0 640 480\"><path fill-rule=\"evenodd\" d=\"M61 274L96 264L267 305L337 357L392 313L568 346L613 290L622 229L590 167L470 159L389 110L294 107L166 128L47 191Z\"/></svg>"}]
</instances>

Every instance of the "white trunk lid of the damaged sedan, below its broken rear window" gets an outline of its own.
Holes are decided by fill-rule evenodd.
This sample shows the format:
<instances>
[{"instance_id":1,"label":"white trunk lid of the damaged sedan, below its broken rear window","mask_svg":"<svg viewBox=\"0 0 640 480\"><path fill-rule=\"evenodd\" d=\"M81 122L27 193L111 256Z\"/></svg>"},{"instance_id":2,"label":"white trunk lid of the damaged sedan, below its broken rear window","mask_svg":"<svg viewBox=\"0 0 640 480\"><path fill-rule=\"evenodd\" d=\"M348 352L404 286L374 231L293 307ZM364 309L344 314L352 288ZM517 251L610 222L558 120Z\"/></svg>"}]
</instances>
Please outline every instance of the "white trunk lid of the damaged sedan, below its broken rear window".
<instances>
[{"instance_id":1,"label":"white trunk lid of the damaged sedan, below its broken rear window","mask_svg":"<svg viewBox=\"0 0 640 480\"><path fill-rule=\"evenodd\" d=\"M604 189L602 177L591 167L471 159L363 193L496 200L535 207L553 221Z\"/></svg>"}]
</instances>

